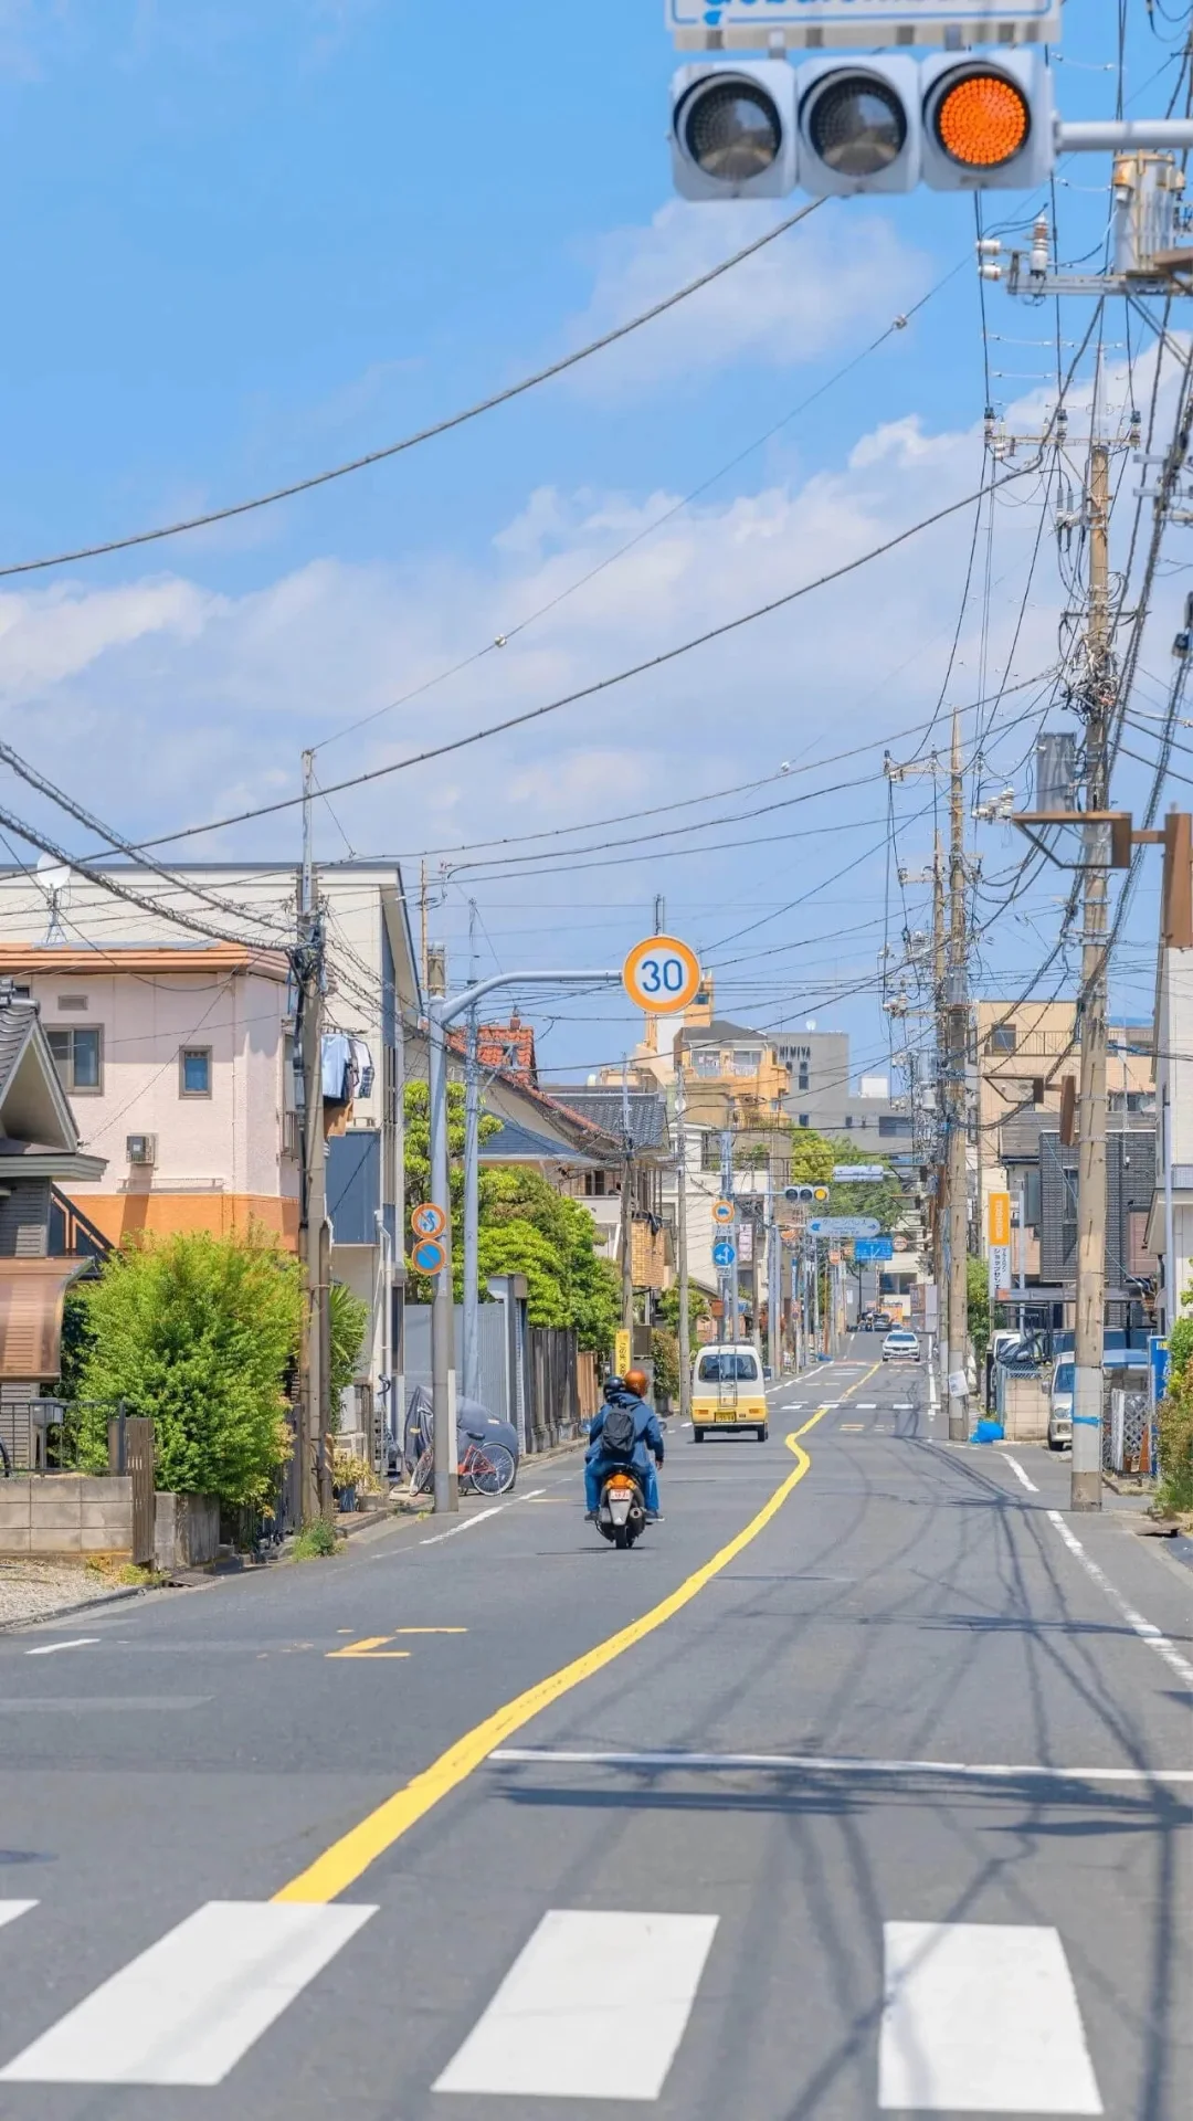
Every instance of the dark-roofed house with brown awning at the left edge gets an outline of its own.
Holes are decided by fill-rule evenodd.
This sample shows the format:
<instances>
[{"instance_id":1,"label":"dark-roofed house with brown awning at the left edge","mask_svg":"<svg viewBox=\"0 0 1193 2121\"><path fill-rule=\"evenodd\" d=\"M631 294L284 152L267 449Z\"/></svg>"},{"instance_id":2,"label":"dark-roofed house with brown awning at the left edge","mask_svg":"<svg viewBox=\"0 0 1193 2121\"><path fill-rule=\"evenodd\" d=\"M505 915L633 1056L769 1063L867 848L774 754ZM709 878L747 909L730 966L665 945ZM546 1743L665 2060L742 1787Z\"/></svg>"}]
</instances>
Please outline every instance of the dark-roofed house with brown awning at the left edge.
<instances>
[{"instance_id":1,"label":"dark-roofed house with brown awning at the left edge","mask_svg":"<svg viewBox=\"0 0 1193 2121\"><path fill-rule=\"evenodd\" d=\"M93 1232L76 1247L62 1188L102 1177L104 1158L79 1143L36 1001L0 980L0 1383L8 1406L59 1374L66 1290L98 1249ZM4 1419L13 1453L13 1415Z\"/></svg>"}]
</instances>

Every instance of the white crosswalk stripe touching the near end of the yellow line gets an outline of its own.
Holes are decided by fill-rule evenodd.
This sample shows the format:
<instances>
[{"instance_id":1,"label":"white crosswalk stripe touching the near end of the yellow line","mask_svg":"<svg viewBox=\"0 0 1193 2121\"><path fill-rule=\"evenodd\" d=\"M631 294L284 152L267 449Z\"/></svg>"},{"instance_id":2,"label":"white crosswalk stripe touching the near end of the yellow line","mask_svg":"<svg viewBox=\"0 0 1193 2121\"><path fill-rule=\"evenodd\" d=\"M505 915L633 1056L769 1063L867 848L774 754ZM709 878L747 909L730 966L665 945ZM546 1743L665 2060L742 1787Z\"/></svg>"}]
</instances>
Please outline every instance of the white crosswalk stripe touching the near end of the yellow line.
<instances>
[{"instance_id":1,"label":"white crosswalk stripe touching the near end of the yellow line","mask_svg":"<svg viewBox=\"0 0 1193 2121\"><path fill-rule=\"evenodd\" d=\"M0 2070L11 2085L219 2085L376 1907L208 1900Z\"/></svg>"}]
</instances>

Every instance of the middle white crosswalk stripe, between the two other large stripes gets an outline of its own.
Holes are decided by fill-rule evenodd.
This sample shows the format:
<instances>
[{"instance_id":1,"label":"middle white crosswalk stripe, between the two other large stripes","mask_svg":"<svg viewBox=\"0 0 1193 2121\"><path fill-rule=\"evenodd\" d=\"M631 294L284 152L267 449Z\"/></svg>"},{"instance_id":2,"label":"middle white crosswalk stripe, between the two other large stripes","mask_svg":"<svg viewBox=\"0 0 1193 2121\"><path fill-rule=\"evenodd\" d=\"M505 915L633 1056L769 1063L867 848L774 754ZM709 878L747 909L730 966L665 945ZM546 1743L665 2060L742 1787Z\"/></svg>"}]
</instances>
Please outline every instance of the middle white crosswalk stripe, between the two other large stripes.
<instances>
[{"instance_id":1,"label":"middle white crosswalk stripe, between the two other large stripes","mask_svg":"<svg viewBox=\"0 0 1193 2121\"><path fill-rule=\"evenodd\" d=\"M715 1926L715 1915L552 1909L433 2089L656 2100Z\"/></svg>"}]
</instances>

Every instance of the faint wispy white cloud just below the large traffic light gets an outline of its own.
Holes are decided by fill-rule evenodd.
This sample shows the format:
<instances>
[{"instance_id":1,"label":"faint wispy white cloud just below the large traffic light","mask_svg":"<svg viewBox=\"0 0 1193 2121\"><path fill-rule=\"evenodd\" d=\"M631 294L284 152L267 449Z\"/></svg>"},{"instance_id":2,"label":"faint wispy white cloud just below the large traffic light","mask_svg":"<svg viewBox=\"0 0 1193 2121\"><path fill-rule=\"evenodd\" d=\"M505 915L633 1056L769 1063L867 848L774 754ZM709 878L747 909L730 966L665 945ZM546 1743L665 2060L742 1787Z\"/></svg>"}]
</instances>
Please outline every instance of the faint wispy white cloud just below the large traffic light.
<instances>
[{"instance_id":1,"label":"faint wispy white cloud just below the large traffic light","mask_svg":"<svg viewBox=\"0 0 1193 2121\"><path fill-rule=\"evenodd\" d=\"M741 250L779 216L773 206L671 199L650 227L618 229L594 252L596 280L569 337L586 344ZM690 295L573 373L592 397L692 388L734 361L813 361L841 333L885 325L928 284L930 265L894 218L828 201L805 227Z\"/></svg>"}]
</instances>

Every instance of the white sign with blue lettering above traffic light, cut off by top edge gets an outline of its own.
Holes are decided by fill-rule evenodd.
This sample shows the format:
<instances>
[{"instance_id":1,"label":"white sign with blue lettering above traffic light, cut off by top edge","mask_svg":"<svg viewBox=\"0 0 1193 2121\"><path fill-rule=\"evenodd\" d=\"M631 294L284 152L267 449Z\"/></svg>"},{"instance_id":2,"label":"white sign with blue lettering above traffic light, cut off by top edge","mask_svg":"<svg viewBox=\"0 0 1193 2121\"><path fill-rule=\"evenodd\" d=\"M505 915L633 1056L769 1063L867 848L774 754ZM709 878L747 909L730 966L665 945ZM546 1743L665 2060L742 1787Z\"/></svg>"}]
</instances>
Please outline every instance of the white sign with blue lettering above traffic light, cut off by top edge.
<instances>
[{"instance_id":1,"label":"white sign with blue lettering above traffic light, cut off by top edge","mask_svg":"<svg viewBox=\"0 0 1193 2121\"><path fill-rule=\"evenodd\" d=\"M677 51L1055 42L1061 0L664 0Z\"/></svg>"}]
</instances>

